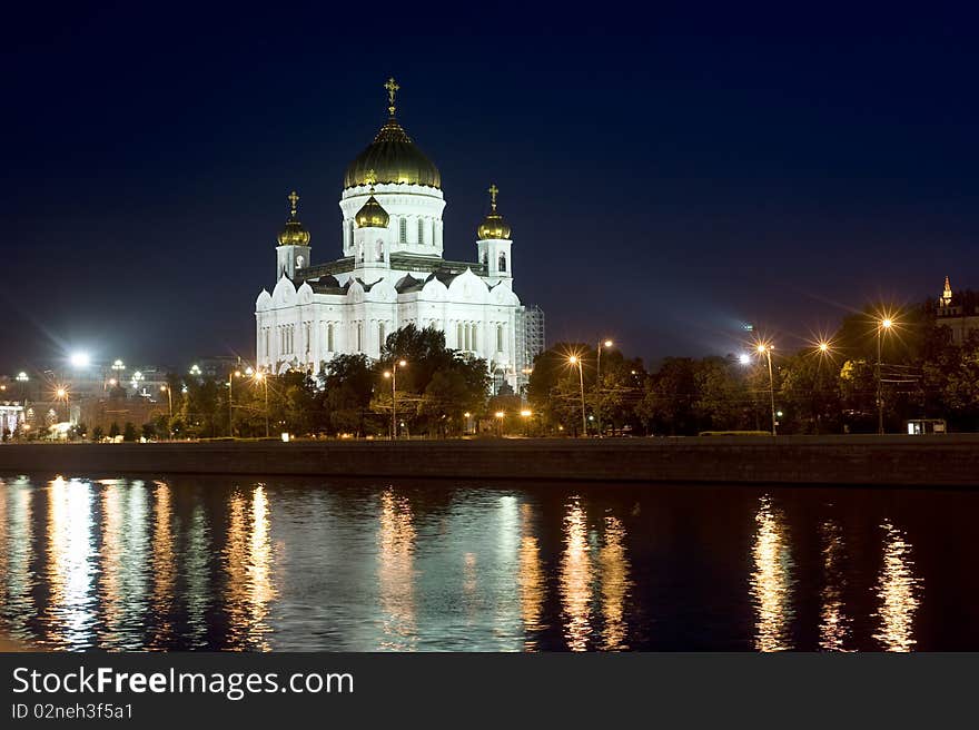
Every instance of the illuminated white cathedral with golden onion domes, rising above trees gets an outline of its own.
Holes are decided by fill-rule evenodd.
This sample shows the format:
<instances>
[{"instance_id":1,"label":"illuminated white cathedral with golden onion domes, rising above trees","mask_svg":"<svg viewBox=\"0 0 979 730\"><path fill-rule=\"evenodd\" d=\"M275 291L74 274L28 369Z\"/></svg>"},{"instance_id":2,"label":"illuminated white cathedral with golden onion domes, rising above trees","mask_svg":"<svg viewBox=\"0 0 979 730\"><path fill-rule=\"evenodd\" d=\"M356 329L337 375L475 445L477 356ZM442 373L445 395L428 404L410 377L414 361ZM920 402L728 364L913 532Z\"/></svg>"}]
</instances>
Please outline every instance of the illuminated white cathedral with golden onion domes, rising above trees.
<instances>
[{"instance_id":1,"label":"illuminated white cathedral with golden onion domes, rising above trees","mask_svg":"<svg viewBox=\"0 0 979 730\"><path fill-rule=\"evenodd\" d=\"M377 358L390 333L414 324L484 358L494 393L520 392L543 347L543 313L526 309L513 290L513 239L498 189L491 185L490 213L476 228L476 260L445 259L438 168L395 116L397 83L385 88L388 118L344 176L342 257L313 262L299 197L288 197L276 285L255 303L258 366L318 373L338 354Z\"/></svg>"}]
</instances>

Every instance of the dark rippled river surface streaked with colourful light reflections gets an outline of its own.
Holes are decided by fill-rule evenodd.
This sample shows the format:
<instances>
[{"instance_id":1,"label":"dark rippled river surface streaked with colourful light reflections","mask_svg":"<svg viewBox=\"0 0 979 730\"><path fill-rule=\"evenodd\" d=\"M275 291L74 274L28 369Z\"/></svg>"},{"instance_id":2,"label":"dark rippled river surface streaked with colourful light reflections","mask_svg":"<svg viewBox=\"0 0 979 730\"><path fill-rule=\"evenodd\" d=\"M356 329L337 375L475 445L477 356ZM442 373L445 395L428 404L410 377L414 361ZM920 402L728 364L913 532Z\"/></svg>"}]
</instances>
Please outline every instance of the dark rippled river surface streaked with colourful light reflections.
<instances>
[{"instance_id":1,"label":"dark rippled river surface streaked with colourful light reflections","mask_svg":"<svg viewBox=\"0 0 979 730\"><path fill-rule=\"evenodd\" d=\"M0 480L51 649L977 650L979 493Z\"/></svg>"}]
</instances>

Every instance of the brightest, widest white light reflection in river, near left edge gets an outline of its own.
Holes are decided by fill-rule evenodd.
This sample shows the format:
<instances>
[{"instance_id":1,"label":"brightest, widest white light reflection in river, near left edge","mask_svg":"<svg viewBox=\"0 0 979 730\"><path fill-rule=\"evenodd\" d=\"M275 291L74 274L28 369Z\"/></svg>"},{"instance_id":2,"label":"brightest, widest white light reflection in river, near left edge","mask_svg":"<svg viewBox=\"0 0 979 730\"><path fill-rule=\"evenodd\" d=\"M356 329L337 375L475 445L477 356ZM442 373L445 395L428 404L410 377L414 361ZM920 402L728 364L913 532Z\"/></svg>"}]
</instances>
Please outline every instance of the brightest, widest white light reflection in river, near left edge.
<instances>
[{"instance_id":1,"label":"brightest, widest white light reflection in river, near left edge","mask_svg":"<svg viewBox=\"0 0 979 730\"><path fill-rule=\"evenodd\" d=\"M53 480L48 486L47 581L50 599L41 621L46 643L58 649L91 648L96 599L92 487Z\"/></svg>"}]
</instances>

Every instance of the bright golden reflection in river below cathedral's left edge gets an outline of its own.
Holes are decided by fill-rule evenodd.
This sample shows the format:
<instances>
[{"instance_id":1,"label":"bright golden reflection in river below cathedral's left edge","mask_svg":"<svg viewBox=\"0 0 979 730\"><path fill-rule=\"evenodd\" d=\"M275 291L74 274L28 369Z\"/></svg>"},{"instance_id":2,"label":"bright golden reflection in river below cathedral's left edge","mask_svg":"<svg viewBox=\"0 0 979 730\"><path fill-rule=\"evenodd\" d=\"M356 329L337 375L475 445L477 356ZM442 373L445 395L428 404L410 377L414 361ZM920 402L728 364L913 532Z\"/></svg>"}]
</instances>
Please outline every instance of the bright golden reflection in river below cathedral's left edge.
<instances>
[{"instance_id":1,"label":"bright golden reflection in river below cathedral's left edge","mask_svg":"<svg viewBox=\"0 0 979 730\"><path fill-rule=\"evenodd\" d=\"M236 492L230 500L225 548L229 649L269 651L271 648L268 614L275 588L268 533L265 485L257 484L251 490L250 504L244 494Z\"/></svg>"}]
</instances>

